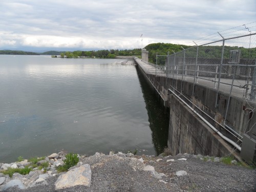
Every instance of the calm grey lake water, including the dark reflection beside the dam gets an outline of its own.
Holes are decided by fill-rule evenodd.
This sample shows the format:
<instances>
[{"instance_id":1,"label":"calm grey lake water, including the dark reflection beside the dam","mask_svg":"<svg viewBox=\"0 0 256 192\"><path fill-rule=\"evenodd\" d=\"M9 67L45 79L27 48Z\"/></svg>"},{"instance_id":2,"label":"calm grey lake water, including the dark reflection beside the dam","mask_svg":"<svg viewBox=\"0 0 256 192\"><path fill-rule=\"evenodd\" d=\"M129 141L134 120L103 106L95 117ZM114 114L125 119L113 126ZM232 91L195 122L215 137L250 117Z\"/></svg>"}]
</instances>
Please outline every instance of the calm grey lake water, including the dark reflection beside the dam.
<instances>
[{"instance_id":1,"label":"calm grey lake water, including the dark reflection beside the dam","mask_svg":"<svg viewBox=\"0 0 256 192\"><path fill-rule=\"evenodd\" d=\"M168 112L120 59L0 55L0 162L65 150L157 155Z\"/></svg>"}]
</instances>

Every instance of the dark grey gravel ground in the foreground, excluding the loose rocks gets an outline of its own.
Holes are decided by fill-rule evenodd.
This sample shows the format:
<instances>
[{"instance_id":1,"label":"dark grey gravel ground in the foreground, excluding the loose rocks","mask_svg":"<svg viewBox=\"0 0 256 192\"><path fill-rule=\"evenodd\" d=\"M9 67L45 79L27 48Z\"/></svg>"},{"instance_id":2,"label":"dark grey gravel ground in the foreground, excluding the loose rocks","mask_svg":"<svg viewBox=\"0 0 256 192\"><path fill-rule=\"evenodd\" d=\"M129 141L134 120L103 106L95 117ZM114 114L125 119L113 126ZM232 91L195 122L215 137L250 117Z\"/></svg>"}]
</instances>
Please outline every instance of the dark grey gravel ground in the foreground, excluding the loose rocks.
<instances>
[{"instance_id":1,"label":"dark grey gravel ground in the foreground, excluding the loose rocks","mask_svg":"<svg viewBox=\"0 0 256 192\"><path fill-rule=\"evenodd\" d=\"M137 159L141 158L135 156ZM142 156L144 163L131 158L118 156L94 155L83 158L92 170L91 187L77 186L55 190L54 183L58 176L47 179L49 185L36 186L25 190L11 188L7 191L256 191L256 170L243 166L225 165L221 162L205 162L193 155L175 157ZM187 160L178 160L186 158ZM173 162L166 162L175 159ZM158 173L164 173L164 182L145 172L143 167L152 165ZM176 176L176 172L185 170L186 176Z\"/></svg>"}]
</instances>

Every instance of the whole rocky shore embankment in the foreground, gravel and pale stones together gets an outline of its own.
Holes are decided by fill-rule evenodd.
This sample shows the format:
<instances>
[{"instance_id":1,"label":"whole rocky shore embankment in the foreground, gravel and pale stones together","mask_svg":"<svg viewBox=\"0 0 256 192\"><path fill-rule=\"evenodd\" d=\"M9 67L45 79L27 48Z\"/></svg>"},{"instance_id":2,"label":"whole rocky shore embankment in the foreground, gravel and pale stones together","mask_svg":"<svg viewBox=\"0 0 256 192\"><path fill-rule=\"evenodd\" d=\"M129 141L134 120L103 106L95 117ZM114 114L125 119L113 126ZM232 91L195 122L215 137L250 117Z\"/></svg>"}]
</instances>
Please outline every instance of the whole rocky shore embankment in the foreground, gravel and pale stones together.
<instances>
[{"instance_id":1,"label":"whole rocky shore embankment in the foreground, gravel and pale stones together","mask_svg":"<svg viewBox=\"0 0 256 192\"><path fill-rule=\"evenodd\" d=\"M4 175L8 167L31 162L0 163L0 191L256 191L256 170L226 165L201 155L134 156L131 153L79 156L68 172L57 173L65 153L52 154L27 175ZM236 164L236 161L233 161Z\"/></svg>"}]
</instances>

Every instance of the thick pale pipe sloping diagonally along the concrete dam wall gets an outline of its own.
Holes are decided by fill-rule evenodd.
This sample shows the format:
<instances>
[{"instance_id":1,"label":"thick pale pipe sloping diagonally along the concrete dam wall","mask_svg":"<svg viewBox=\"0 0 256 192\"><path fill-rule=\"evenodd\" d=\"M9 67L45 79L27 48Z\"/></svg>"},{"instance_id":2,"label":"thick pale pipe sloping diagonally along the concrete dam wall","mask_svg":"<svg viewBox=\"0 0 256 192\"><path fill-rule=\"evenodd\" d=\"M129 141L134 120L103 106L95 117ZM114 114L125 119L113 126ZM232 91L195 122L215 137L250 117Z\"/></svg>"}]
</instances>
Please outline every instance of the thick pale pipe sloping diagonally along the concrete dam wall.
<instances>
[{"instance_id":1,"label":"thick pale pipe sloping diagonally along the concrete dam wall","mask_svg":"<svg viewBox=\"0 0 256 192\"><path fill-rule=\"evenodd\" d=\"M197 113L191 106L189 106L183 99L181 99L176 93L174 93L172 90L168 89L168 91L172 92L178 99L180 99L190 110L193 111L202 121L204 121L212 130L214 130L222 139L229 142L231 145L236 147L239 151L241 151L241 146L239 146L237 143L233 142L231 139L228 139L226 136L224 136L219 130L217 130L214 126L212 126L205 118L203 118L199 113Z\"/></svg>"}]
</instances>

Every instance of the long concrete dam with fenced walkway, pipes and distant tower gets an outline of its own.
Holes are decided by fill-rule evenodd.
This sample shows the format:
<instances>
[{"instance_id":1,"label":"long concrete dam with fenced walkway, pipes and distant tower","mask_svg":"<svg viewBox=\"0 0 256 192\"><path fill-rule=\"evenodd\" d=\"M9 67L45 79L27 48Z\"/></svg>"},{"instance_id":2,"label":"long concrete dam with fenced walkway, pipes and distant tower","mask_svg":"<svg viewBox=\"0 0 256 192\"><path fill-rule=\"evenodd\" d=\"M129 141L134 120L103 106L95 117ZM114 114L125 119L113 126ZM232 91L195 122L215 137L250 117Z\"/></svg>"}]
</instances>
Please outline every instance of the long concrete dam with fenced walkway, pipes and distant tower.
<instances>
[{"instance_id":1,"label":"long concrete dam with fenced walkway, pipes and distant tower","mask_svg":"<svg viewBox=\"0 0 256 192\"><path fill-rule=\"evenodd\" d=\"M223 38L167 54L165 65L148 62L145 49L141 59L134 58L169 108L168 147L173 155L232 155L255 162L255 54L248 57L242 48L225 46L255 36ZM220 57L204 58L200 50L210 50L213 45L219 46Z\"/></svg>"}]
</instances>

